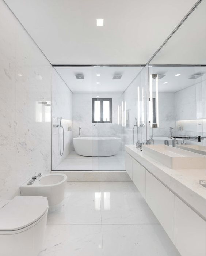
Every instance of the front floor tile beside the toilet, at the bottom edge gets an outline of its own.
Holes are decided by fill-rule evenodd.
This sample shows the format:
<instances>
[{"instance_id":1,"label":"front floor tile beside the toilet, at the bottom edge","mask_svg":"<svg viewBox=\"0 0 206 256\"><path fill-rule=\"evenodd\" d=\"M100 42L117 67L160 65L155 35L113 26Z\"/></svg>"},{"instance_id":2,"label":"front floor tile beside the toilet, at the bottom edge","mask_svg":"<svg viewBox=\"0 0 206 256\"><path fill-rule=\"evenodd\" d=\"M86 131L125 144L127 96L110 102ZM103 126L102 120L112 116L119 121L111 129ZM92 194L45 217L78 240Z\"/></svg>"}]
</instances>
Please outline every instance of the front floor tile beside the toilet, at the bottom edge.
<instances>
[{"instance_id":1,"label":"front floor tile beside the toilet, at the bottom edge","mask_svg":"<svg viewBox=\"0 0 206 256\"><path fill-rule=\"evenodd\" d=\"M101 225L47 225L38 256L103 256Z\"/></svg>"}]
</instances>

